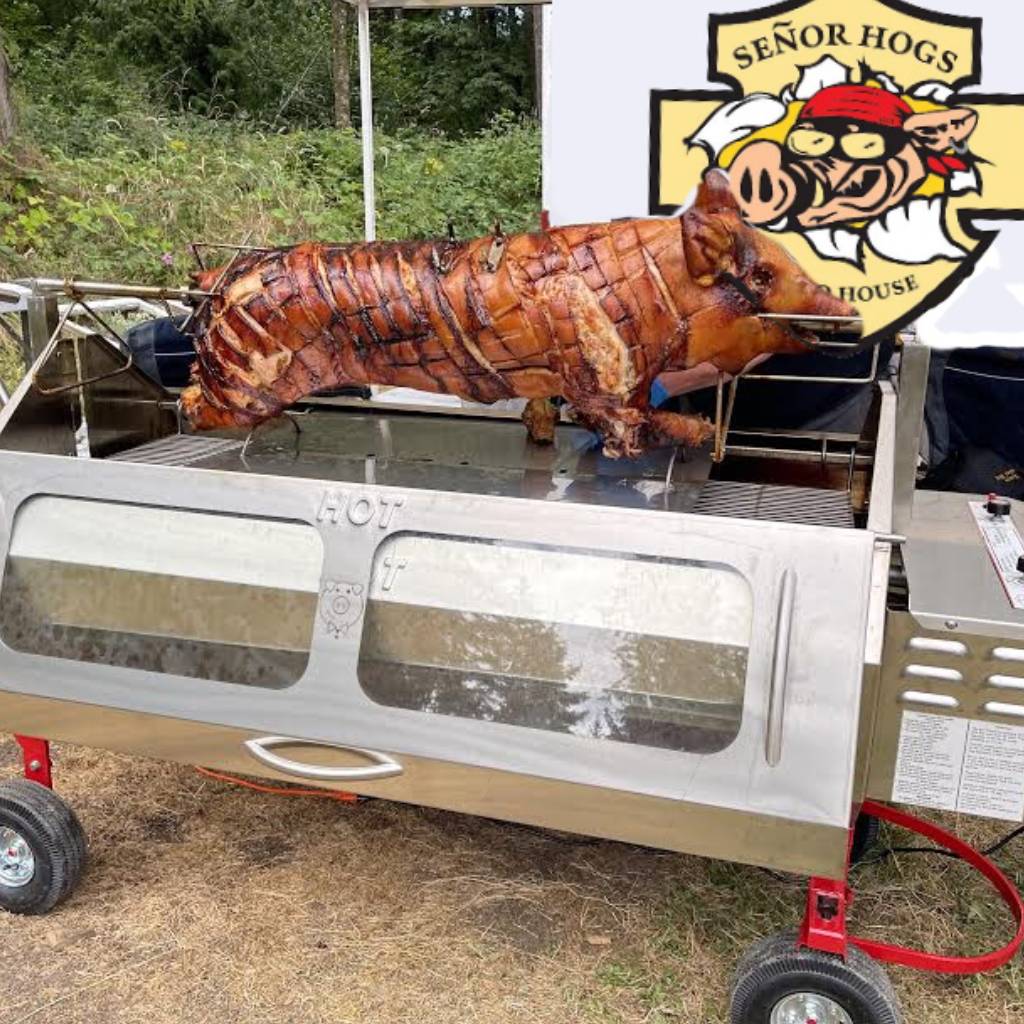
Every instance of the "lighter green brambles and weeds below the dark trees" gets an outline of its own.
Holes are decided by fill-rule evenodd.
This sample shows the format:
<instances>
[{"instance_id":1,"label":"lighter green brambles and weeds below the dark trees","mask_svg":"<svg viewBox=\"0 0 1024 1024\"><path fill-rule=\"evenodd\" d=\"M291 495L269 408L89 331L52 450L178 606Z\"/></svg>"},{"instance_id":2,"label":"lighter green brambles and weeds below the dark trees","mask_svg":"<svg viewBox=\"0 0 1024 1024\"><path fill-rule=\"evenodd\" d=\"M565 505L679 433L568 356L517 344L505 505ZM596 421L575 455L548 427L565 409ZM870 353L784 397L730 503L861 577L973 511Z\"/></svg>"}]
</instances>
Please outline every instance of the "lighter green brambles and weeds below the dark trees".
<instances>
[{"instance_id":1,"label":"lighter green brambles and weeds below the dark trees","mask_svg":"<svg viewBox=\"0 0 1024 1024\"><path fill-rule=\"evenodd\" d=\"M506 117L476 135L378 137L378 231L464 237L537 226L540 139ZM180 283L194 240L284 244L362 234L360 146L335 129L122 116L79 140L0 156L0 279Z\"/></svg>"}]
</instances>

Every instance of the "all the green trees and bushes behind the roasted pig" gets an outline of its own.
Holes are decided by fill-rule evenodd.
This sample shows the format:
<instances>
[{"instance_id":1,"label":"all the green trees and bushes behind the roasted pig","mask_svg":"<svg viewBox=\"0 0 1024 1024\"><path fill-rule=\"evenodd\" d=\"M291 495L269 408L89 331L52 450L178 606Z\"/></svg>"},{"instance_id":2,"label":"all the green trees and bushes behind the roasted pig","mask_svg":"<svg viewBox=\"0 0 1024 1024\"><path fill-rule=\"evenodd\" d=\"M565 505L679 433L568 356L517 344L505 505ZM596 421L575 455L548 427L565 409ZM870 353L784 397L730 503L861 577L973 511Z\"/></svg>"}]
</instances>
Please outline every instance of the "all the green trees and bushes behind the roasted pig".
<instances>
[{"instance_id":1,"label":"all the green trees and bushes behind the roasted pig","mask_svg":"<svg viewBox=\"0 0 1024 1024\"><path fill-rule=\"evenodd\" d=\"M193 240L361 237L358 135L324 127L330 29L329 0L0 0L22 125L0 279L180 283ZM373 33L379 234L536 226L521 10L381 11Z\"/></svg>"}]
</instances>

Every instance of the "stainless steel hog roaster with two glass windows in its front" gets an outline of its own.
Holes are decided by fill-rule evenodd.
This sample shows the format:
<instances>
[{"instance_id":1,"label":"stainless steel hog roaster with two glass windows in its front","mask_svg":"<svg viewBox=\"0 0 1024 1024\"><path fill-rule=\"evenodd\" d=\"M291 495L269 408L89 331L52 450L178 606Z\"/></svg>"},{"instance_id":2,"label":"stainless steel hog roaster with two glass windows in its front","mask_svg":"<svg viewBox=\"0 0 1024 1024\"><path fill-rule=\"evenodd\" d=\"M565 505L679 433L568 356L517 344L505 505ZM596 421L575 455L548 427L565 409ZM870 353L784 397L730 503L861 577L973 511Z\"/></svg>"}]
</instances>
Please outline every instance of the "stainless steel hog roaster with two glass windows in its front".
<instances>
[{"instance_id":1,"label":"stainless steel hog roaster with two glass windows in its front","mask_svg":"<svg viewBox=\"0 0 1024 1024\"><path fill-rule=\"evenodd\" d=\"M866 800L1024 815L1024 510L915 494L912 338L859 434L612 462L386 395L193 435L56 298L0 412L4 729L818 883Z\"/></svg>"}]
</instances>

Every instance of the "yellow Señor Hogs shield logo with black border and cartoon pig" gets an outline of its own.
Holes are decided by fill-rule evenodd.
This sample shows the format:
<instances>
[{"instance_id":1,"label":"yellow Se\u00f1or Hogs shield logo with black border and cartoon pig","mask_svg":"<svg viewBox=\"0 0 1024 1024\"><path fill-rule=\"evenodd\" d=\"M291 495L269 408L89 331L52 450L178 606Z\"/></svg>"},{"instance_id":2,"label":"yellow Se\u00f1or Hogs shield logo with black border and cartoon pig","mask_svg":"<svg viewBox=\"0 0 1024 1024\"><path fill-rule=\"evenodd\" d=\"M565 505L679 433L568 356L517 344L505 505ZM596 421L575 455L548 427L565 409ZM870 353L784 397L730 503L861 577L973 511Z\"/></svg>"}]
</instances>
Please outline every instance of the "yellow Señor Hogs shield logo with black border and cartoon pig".
<instances>
[{"instance_id":1,"label":"yellow Se\u00f1or Hogs shield logo with black border and cartoon pig","mask_svg":"<svg viewBox=\"0 0 1024 1024\"><path fill-rule=\"evenodd\" d=\"M744 215L855 303L865 337L946 298L1024 217L1024 96L981 81L981 19L807 0L710 19L709 78L651 94L651 213L709 167Z\"/></svg>"}]
</instances>

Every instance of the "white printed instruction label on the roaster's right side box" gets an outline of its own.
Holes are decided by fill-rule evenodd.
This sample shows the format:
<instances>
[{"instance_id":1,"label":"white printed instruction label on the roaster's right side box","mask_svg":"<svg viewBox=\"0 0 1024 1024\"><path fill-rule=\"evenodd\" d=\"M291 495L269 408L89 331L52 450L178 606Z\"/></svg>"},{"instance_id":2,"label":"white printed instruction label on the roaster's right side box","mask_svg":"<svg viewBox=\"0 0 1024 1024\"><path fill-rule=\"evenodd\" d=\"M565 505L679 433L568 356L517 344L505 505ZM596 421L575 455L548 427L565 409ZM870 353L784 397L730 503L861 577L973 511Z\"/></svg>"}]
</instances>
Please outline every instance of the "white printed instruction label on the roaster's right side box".
<instances>
[{"instance_id":1,"label":"white printed instruction label on the roaster's right side box","mask_svg":"<svg viewBox=\"0 0 1024 1024\"><path fill-rule=\"evenodd\" d=\"M1024 821L1024 726L903 712L892 799Z\"/></svg>"}]
</instances>

